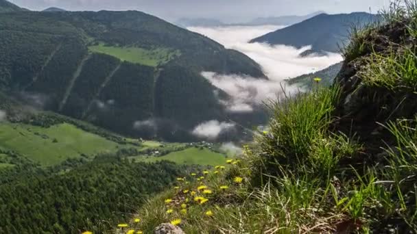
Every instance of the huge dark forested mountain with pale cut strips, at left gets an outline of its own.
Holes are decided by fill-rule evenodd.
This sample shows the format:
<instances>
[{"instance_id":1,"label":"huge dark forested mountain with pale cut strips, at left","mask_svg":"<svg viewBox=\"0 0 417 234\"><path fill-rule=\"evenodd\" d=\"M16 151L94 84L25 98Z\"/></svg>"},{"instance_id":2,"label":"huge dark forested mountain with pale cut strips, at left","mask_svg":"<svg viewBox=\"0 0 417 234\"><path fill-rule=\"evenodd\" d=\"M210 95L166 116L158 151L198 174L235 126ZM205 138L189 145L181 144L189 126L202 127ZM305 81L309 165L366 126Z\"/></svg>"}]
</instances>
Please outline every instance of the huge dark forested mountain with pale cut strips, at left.
<instances>
[{"instance_id":1,"label":"huge dark forested mountain with pale cut strips, at left","mask_svg":"<svg viewBox=\"0 0 417 234\"><path fill-rule=\"evenodd\" d=\"M189 140L229 118L202 71L265 79L246 55L143 12L1 14L0 35L3 92L137 137Z\"/></svg>"}]
</instances>

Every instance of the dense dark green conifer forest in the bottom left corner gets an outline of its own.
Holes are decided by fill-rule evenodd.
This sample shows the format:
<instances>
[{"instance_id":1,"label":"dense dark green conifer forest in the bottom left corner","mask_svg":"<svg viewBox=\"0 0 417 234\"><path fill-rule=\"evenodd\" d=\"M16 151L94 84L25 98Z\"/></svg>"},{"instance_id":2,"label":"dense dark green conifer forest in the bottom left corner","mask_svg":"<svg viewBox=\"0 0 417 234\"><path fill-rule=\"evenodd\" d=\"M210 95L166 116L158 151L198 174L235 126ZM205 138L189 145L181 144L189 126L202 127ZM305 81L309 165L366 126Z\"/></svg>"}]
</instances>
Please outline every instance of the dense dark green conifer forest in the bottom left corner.
<instances>
[{"instance_id":1,"label":"dense dark green conifer forest in the bottom left corner","mask_svg":"<svg viewBox=\"0 0 417 234\"><path fill-rule=\"evenodd\" d=\"M97 159L61 174L28 174L0 185L0 233L101 233L173 182L183 168L166 162Z\"/></svg>"}]
</instances>

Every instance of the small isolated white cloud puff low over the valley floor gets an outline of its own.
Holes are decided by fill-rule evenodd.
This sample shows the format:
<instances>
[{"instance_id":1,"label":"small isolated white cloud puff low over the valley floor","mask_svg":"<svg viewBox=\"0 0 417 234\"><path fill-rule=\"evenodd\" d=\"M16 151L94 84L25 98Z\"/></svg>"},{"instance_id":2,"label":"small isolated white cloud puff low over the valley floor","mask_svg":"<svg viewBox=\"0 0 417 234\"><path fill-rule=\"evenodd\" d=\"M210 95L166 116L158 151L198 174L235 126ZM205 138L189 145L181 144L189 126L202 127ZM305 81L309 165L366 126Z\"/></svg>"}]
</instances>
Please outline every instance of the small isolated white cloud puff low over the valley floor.
<instances>
[{"instance_id":1,"label":"small isolated white cloud puff low over the valley floor","mask_svg":"<svg viewBox=\"0 0 417 234\"><path fill-rule=\"evenodd\" d=\"M192 133L199 138L206 138L208 140L215 140L217 136L223 131L229 131L235 128L235 124L231 122L219 122L217 120L210 120L202 122L196 126Z\"/></svg>"}]
</instances>

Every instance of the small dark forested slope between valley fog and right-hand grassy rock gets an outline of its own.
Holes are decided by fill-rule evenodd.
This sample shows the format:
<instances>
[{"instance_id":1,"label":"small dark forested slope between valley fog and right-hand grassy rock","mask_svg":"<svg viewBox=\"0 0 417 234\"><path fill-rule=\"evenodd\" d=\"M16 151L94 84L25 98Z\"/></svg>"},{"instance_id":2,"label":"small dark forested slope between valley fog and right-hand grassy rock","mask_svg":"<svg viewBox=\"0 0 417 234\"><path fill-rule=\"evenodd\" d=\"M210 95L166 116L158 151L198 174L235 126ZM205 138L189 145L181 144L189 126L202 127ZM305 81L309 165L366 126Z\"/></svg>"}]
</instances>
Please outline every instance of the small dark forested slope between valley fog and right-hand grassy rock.
<instances>
[{"instance_id":1,"label":"small dark forested slope between valley fog and right-hand grassy rock","mask_svg":"<svg viewBox=\"0 0 417 234\"><path fill-rule=\"evenodd\" d=\"M299 77L286 79L285 81L287 81L287 83L289 83L290 85L296 85L301 88L311 88L315 84L315 81L313 81L313 79L315 77L319 77L320 79L322 79L320 81L321 85L330 86L331 83L333 83L333 80L335 79L337 73L339 73L340 68L342 68L342 62L333 64L332 66L329 66L328 68L325 68L323 70L319 70L315 73L300 75Z\"/></svg>"}]
</instances>

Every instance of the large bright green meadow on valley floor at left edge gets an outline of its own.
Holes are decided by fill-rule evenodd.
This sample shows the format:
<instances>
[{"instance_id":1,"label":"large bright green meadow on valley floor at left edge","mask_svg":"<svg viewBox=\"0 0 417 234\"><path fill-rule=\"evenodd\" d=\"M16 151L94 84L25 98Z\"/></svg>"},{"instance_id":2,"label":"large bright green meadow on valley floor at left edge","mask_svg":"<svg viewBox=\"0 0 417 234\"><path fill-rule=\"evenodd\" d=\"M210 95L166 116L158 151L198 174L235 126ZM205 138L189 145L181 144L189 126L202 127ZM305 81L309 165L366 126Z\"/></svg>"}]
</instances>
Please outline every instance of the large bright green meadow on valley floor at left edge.
<instances>
[{"instance_id":1,"label":"large bright green meadow on valley floor at left edge","mask_svg":"<svg viewBox=\"0 0 417 234\"><path fill-rule=\"evenodd\" d=\"M57 142L53 142L55 139ZM43 166L51 166L81 157L81 154L93 156L132 146L119 145L66 123L43 128L5 122L0 124L0 147L21 153Z\"/></svg>"}]
</instances>

